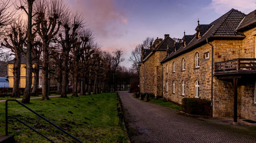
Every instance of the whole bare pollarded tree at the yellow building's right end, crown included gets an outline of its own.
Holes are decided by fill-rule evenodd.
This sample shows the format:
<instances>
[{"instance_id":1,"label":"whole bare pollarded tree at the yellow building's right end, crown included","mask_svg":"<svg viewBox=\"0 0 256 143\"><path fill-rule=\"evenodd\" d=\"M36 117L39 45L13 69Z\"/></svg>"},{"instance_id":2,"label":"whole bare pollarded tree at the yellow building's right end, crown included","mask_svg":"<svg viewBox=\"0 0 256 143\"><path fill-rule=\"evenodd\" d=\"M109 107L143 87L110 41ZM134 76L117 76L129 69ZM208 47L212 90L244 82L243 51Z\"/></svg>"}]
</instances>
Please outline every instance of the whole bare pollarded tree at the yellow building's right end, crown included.
<instances>
[{"instance_id":1,"label":"whole bare pollarded tree at the yellow building's right end, crown included","mask_svg":"<svg viewBox=\"0 0 256 143\"><path fill-rule=\"evenodd\" d=\"M60 0L37 1L35 3L36 30L42 40L42 100L49 99L49 45L59 31L61 17L66 5Z\"/></svg>"}]
</instances>

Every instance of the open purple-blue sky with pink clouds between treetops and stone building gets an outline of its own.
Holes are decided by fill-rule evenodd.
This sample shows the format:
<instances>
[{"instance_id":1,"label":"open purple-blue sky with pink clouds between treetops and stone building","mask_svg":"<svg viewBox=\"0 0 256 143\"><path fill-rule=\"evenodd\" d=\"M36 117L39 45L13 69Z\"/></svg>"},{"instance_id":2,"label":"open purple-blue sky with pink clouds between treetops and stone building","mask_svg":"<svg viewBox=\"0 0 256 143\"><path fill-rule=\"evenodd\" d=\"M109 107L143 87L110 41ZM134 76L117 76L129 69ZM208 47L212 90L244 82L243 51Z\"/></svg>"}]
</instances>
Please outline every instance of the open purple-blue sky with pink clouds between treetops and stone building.
<instances>
[{"instance_id":1,"label":"open purple-blue sky with pink clouds between treetops and stone building","mask_svg":"<svg viewBox=\"0 0 256 143\"><path fill-rule=\"evenodd\" d=\"M64 0L81 13L103 50L123 50L121 66L130 68L132 50L146 37L182 38L195 34L200 24L209 24L230 9L245 14L255 10L256 0Z\"/></svg>"}]
</instances>

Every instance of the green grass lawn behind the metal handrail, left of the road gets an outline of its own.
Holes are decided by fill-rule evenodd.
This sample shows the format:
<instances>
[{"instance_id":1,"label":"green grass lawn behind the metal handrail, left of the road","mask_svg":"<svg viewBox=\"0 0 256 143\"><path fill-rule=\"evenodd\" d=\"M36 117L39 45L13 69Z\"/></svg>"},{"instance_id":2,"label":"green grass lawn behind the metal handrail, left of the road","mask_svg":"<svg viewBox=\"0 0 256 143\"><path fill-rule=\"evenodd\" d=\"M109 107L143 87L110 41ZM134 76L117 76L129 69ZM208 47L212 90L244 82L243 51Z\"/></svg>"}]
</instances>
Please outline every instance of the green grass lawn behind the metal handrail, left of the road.
<instances>
[{"instance_id":1,"label":"green grass lawn behind the metal handrail, left of the road","mask_svg":"<svg viewBox=\"0 0 256 143\"><path fill-rule=\"evenodd\" d=\"M116 94L102 93L49 101L32 99L27 106L83 142L127 142L123 127L118 126L117 102ZM17 116L55 142L76 142L16 102L8 102L8 115ZM17 142L49 142L13 119L8 122L9 134L14 134ZM5 102L0 103L0 135L4 134Z\"/></svg>"}]
</instances>

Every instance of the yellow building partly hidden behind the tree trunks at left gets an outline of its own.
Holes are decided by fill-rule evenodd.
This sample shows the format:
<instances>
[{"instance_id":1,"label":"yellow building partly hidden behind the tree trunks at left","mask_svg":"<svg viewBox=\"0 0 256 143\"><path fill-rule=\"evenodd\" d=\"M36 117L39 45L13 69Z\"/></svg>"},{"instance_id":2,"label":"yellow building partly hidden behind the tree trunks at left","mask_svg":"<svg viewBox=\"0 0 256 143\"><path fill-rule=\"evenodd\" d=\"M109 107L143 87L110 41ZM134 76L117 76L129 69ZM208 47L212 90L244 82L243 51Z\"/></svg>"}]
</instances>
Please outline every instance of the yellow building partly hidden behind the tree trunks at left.
<instances>
[{"instance_id":1,"label":"yellow building partly hidden behind the tree trunks at left","mask_svg":"<svg viewBox=\"0 0 256 143\"><path fill-rule=\"evenodd\" d=\"M14 60L9 61L7 68L8 68L8 80L9 80L9 88L13 87L13 65L14 65ZM34 64L33 64L34 67ZM32 85L34 81L34 74L32 73L33 80L32 80ZM40 69L39 72L39 88L41 88L42 85L42 69ZM26 86L26 57L22 56L21 57L21 64L20 64L20 81L19 81L19 88L25 88Z\"/></svg>"}]
</instances>

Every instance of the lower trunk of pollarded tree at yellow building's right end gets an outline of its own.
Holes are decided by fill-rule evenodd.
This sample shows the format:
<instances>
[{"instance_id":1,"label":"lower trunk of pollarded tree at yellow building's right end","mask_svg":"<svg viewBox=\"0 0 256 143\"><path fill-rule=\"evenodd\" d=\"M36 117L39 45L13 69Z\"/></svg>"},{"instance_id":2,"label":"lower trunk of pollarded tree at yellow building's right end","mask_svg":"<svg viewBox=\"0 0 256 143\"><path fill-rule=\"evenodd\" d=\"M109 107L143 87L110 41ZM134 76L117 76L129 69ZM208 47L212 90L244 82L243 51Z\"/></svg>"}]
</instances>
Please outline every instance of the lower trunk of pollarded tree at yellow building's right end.
<instances>
[{"instance_id":1,"label":"lower trunk of pollarded tree at yellow building's right end","mask_svg":"<svg viewBox=\"0 0 256 143\"><path fill-rule=\"evenodd\" d=\"M49 55L48 55L48 46L46 43L43 45L43 62L42 62L42 100L49 100Z\"/></svg>"}]
</instances>

